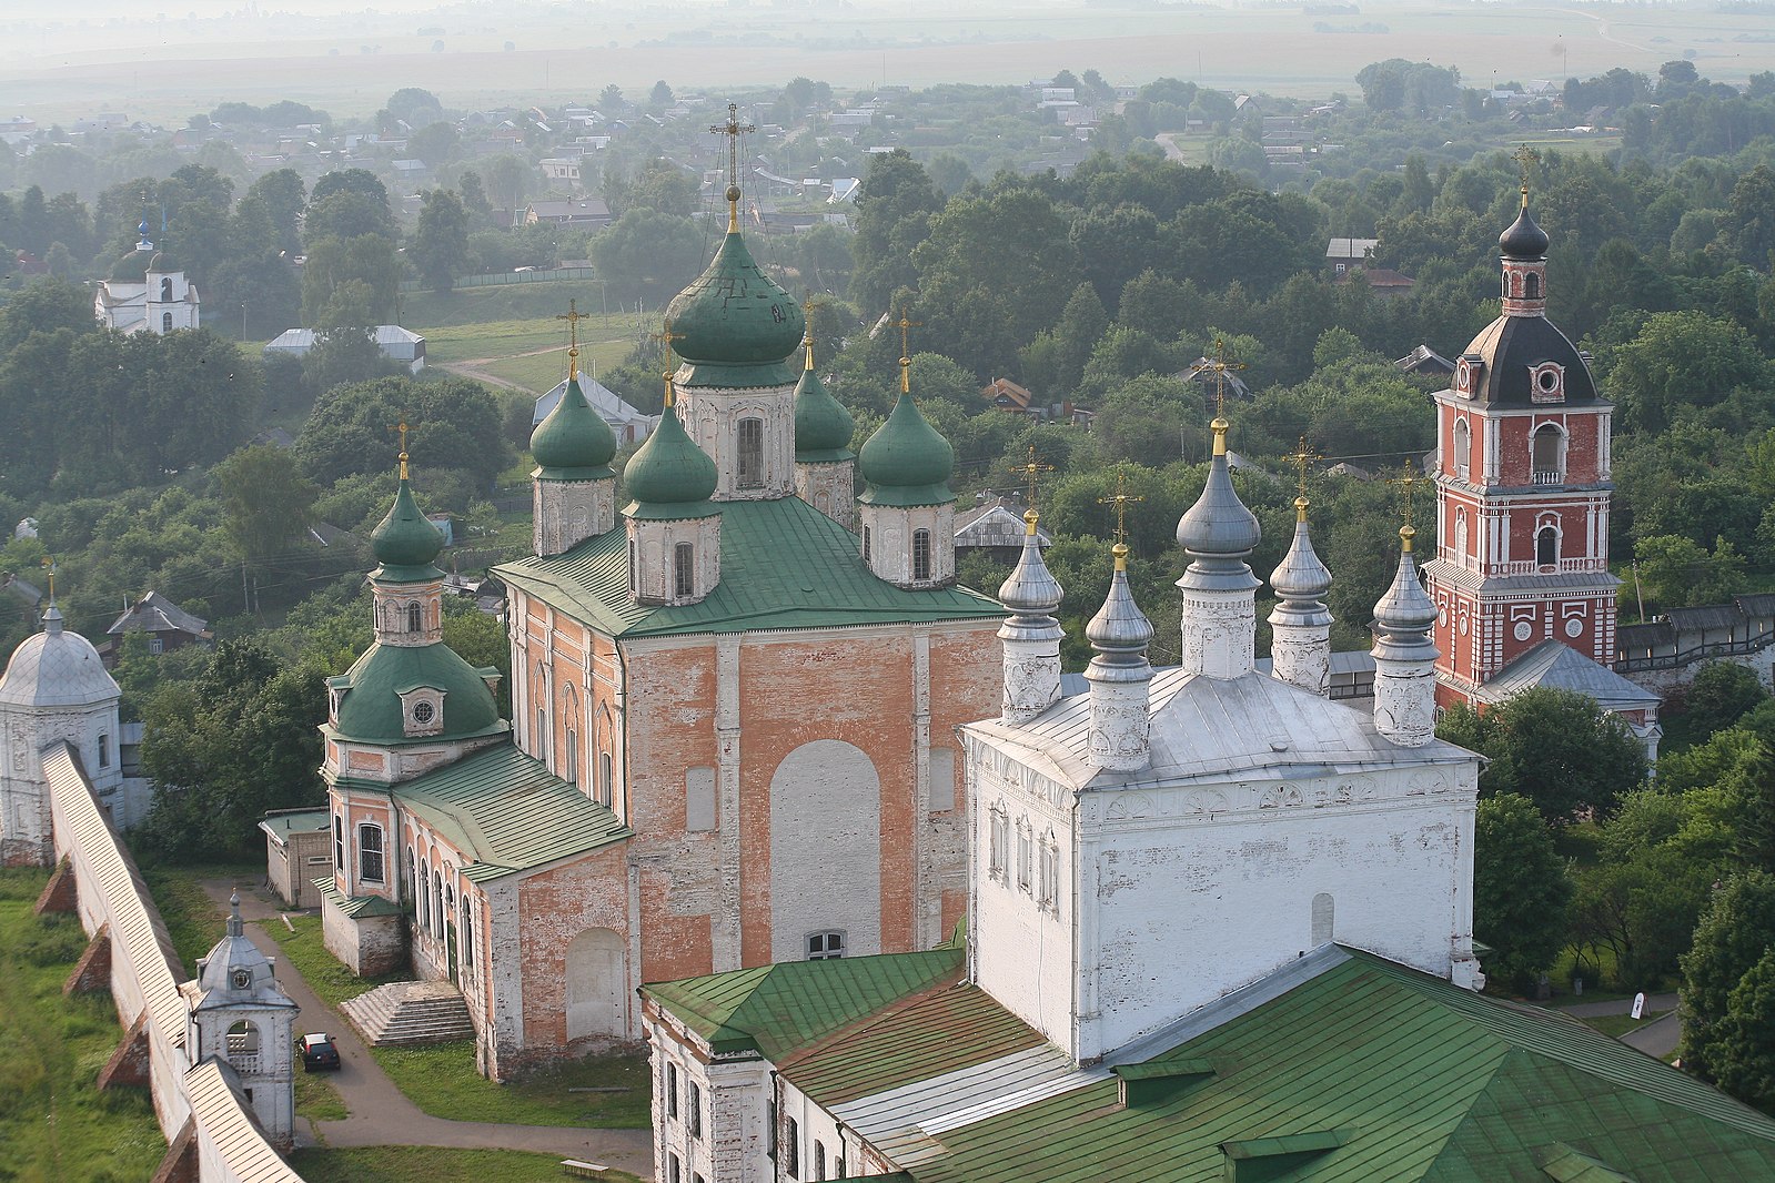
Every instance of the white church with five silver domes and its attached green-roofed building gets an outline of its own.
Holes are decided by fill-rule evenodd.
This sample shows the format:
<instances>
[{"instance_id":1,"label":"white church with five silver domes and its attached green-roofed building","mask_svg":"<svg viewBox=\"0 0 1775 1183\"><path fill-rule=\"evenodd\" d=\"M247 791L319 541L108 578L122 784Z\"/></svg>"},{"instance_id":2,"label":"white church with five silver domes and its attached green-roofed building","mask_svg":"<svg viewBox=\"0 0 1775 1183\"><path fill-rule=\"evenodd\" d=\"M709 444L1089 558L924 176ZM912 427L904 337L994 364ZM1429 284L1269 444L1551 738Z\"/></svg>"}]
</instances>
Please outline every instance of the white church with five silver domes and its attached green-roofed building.
<instances>
[{"instance_id":1,"label":"white church with five silver domes and its attached green-roofed building","mask_svg":"<svg viewBox=\"0 0 1775 1183\"><path fill-rule=\"evenodd\" d=\"M1179 669L1147 662L1118 544L1088 690L1061 695L1028 516L1003 708L960 727L964 940L643 988L657 1179L1771 1178L1775 1121L1477 993L1479 757L1431 731L1413 530L1372 713L1326 697L1305 498L1257 672L1225 431L1177 529Z\"/></svg>"}]
</instances>

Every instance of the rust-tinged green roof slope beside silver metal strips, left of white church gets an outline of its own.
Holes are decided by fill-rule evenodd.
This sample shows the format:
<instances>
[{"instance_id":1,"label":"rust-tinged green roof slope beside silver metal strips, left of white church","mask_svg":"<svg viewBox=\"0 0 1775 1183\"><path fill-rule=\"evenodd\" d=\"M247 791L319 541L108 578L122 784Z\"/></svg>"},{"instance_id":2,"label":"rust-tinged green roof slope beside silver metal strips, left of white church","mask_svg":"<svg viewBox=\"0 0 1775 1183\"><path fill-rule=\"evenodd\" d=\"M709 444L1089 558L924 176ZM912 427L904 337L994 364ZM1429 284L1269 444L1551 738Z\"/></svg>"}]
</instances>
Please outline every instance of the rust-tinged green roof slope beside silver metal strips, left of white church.
<instances>
[{"instance_id":1,"label":"rust-tinged green roof slope beside silver metal strips, left of white church","mask_svg":"<svg viewBox=\"0 0 1775 1183\"><path fill-rule=\"evenodd\" d=\"M941 981L777 1061L777 1071L802 1093L818 1096L822 1105L843 1105L1042 1043L1038 1030L980 986Z\"/></svg>"}]
</instances>

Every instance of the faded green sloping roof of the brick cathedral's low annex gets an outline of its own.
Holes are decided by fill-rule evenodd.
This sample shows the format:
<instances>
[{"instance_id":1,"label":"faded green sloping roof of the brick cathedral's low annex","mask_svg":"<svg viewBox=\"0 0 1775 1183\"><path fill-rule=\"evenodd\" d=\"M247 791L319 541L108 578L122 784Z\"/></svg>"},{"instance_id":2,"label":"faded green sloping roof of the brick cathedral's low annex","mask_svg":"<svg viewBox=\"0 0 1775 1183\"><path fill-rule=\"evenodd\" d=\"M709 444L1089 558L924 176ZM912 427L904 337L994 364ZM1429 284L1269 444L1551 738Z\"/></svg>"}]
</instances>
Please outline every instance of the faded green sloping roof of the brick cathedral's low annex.
<instances>
[{"instance_id":1,"label":"faded green sloping roof of the brick cathedral's low annex","mask_svg":"<svg viewBox=\"0 0 1775 1183\"><path fill-rule=\"evenodd\" d=\"M511 743L403 780L389 793L474 858L462 873L476 883L635 835L609 807Z\"/></svg>"}]
</instances>

